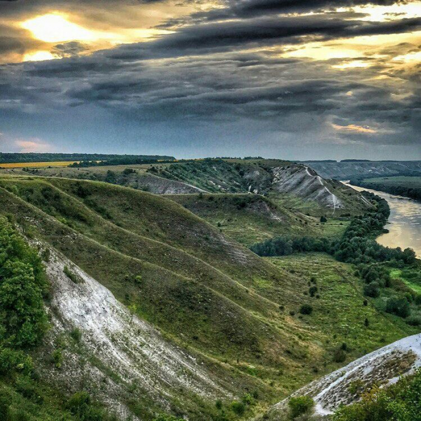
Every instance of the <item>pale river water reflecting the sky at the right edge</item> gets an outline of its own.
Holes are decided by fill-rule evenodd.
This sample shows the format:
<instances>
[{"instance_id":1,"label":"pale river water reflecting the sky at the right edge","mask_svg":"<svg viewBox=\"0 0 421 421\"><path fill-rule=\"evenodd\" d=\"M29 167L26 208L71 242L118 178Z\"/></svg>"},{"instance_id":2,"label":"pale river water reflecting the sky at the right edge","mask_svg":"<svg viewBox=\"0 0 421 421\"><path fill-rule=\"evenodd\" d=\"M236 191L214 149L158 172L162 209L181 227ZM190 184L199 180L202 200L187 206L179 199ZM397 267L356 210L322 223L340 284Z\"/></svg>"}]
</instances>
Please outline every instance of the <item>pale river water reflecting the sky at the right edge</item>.
<instances>
[{"instance_id":1,"label":"pale river water reflecting the sky at the right edge","mask_svg":"<svg viewBox=\"0 0 421 421\"><path fill-rule=\"evenodd\" d=\"M358 191L372 192L387 200L389 204L390 223L385 226L389 232L377 237L377 242L387 247L401 247L402 250L410 247L414 249L417 257L421 258L421 203L401 196L363 189L362 187L351 187Z\"/></svg>"}]
</instances>

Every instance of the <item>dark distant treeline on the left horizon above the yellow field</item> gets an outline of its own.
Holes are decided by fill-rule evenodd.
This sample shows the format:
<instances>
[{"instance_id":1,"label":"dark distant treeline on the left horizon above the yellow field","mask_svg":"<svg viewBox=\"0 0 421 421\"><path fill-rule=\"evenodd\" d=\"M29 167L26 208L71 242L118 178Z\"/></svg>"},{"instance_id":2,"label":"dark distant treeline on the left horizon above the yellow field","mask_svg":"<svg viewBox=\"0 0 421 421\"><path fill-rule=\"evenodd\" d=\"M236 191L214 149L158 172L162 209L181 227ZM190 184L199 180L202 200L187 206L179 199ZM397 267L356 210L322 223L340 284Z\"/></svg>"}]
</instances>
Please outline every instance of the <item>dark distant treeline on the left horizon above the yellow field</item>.
<instances>
[{"instance_id":1,"label":"dark distant treeline on the left horizon above the yellow field","mask_svg":"<svg viewBox=\"0 0 421 421\"><path fill-rule=\"evenodd\" d=\"M106 154L5 154L0 152L1 163L13 162L54 162L54 161L102 161L111 159L167 159L174 160L174 157L160 155L106 155Z\"/></svg>"}]
</instances>

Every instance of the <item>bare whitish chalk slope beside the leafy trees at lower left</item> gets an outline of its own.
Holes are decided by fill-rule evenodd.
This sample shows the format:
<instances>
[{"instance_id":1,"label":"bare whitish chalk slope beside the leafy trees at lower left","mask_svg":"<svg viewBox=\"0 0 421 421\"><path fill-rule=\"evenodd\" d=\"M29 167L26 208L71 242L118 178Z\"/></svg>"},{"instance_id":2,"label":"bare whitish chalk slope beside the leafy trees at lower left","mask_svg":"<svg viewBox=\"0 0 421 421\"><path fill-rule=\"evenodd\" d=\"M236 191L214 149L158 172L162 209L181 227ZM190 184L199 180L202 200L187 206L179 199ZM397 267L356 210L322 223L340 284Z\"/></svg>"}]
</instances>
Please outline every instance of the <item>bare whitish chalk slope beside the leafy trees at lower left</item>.
<instances>
[{"instance_id":1,"label":"bare whitish chalk slope beside the leafy trees at lower left","mask_svg":"<svg viewBox=\"0 0 421 421\"><path fill-rule=\"evenodd\" d=\"M69 279L64 266L80 282ZM203 398L231 396L195 358L164 340L152 325L131 314L108 289L60 253L52 251L46 271L53 285L56 329L79 328L89 355L127 383L136 382L163 406L180 389Z\"/></svg>"}]
</instances>

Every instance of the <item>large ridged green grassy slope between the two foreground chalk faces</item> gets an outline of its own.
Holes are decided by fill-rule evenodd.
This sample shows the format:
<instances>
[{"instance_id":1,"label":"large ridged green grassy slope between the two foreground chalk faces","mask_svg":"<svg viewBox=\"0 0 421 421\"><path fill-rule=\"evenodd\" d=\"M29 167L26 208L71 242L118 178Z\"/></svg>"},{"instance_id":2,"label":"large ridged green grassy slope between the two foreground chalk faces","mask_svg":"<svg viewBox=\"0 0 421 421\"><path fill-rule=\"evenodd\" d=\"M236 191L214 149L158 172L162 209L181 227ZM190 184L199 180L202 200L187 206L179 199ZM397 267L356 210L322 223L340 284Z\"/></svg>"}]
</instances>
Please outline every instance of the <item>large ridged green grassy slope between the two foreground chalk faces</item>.
<instances>
[{"instance_id":1,"label":"large ridged green grassy slope between the two foreground chalk faces","mask_svg":"<svg viewBox=\"0 0 421 421\"><path fill-rule=\"evenodd\" d=\"M233 197L226 200L231 208ZM259 398L245 416L338 367L333 356L345 337L345 329L338 336L342 325L355 334L348 339L348 360L416 331L384 318L373 322L365 338L358 310L369 311L373 320L380 316L363 309L362 286L351 266L336 263L342 275L329 275L334 264L322 258L308 269L304 262L293 267L260 258L162 196L109 183L26 176L2 177L0 202L0 213L29 238L49 244L97 279L194 355L234 396L255 391ZM289 212L280 212L291 221ZM310 297L312 276L320 277L317 282L333 276L331 283L347 288L348 305L343 288L327 293L327 284L326 293L323 286L319 298ZM314 306L312 315L299 314L304 304ZM338 311L329 315L332 306ZM329 323L335 327L327 328ZM174 397L174 408L192 420L201 419L200 408L209 413L207 405L194 396Z\"/></svg>"}]
</instances>

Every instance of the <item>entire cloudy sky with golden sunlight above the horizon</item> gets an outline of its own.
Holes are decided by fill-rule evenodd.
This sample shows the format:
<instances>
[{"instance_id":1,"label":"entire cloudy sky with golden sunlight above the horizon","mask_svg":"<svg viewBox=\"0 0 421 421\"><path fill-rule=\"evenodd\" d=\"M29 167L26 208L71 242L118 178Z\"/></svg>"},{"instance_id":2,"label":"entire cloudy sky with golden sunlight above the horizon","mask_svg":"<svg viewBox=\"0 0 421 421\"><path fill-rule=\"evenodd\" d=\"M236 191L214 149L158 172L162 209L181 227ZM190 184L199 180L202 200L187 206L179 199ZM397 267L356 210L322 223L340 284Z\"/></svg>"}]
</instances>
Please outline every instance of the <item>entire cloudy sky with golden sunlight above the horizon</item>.
<instances>
[{"instance_id":1,"label":"entire cloudy sky with golden sunlight above the horizon","mask_svg":"<svg viewBox=\"0 0 421 421\"><path fill-rule=\"evenodd\" d=\"M0 0L0 151L421 159L421 1Z\"/></svg>"}]
</instances>

